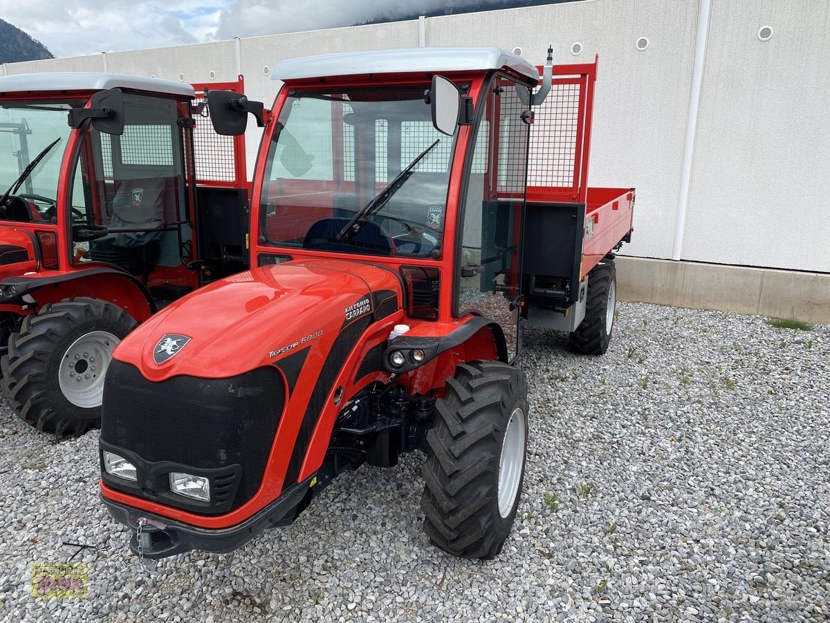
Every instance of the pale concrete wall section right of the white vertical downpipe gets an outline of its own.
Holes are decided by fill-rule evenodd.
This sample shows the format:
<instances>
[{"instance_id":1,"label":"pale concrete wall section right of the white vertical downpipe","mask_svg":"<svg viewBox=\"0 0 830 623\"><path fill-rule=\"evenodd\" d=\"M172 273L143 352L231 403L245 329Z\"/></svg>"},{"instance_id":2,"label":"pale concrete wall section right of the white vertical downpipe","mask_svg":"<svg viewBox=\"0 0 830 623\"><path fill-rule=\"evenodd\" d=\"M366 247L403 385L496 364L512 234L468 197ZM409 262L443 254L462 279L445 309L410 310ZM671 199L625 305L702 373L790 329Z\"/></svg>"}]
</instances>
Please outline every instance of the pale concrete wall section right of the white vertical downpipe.
<instances>
[{"instance_id":1,"label":"pale concrete wall section right of the white vertical downpipe","mask_svg":"<svg viewBox=\"0 0 830 623\"><path fill-rule=\"evenodd\" d=\"M684 259L830 272L828 32L825 0L712 2Z\"/></svg>"}]
</instances>

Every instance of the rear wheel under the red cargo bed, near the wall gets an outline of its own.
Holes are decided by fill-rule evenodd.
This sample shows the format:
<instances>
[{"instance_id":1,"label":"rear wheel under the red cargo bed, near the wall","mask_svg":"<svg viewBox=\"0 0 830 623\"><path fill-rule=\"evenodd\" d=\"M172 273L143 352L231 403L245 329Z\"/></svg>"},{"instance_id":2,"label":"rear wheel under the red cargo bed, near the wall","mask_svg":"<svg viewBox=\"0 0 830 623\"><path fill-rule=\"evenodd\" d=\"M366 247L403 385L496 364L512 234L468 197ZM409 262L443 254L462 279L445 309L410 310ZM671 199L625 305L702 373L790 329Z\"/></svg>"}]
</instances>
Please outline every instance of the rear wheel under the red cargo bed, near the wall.
<instances>
[{"instance_id":1,"label":"rear wheel under the red cargo bed, near the wall","mask_svg":"<svg viewBox=\"0 0 830 623\"><path fill-rule=\"evenodd\" d=\"M583 355L603 355L611 341L617 307L617 267L613 260L603 259L588 272L587 296L585 317L569 334L570 344Z\"/></svg>"}]
</instances>

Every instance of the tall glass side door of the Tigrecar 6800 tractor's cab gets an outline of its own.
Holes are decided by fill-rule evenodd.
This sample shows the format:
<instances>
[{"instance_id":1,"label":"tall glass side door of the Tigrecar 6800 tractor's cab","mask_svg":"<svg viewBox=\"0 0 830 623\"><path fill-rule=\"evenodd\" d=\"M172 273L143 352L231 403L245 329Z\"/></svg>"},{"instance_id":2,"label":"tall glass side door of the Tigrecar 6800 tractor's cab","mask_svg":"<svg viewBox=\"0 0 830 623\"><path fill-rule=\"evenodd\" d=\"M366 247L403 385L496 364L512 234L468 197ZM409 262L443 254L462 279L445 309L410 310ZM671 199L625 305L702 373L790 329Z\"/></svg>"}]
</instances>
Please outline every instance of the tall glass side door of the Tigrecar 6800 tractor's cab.
<instances>
[{"instance_id":1,"label":"tall glass side door of the Tigrecar 6800 tractor's cab","mask_svg":"<svg viewBox=\"0 0 830 623\"><path fill-rule=\"evenodd\" d=\"M519 352L521 245L530 125L520 91L494 76L477 115L461 208L457 315L475 311L505 332L508 361Z\"/></svg>"}]
</instances>

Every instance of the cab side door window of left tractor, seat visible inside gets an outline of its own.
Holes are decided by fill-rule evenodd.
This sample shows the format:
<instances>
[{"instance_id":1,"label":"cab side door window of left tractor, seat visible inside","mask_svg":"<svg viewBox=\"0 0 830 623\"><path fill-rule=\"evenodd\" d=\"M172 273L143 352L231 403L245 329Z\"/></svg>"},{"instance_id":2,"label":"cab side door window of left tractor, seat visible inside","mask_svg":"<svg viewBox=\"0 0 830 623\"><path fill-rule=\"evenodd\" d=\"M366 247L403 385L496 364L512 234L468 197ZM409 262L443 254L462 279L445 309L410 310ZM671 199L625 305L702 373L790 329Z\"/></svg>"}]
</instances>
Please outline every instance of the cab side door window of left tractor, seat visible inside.
<instances>
[{"instance_id":1,"label":"cab side door window of left tractor, seat visible inside","mask_svg":"<svg viewBox=\"0 0 830 623\"><path fill-rule=\"evenodd\" d=\"M175 266L182 251L175 230L188 218L178 106L173 100L136 95L125 95L124 104L122 135L90 127L82 141L72 220L106 228L106 235L78 239L79 229L73 229L75 257L114 262L130 272L157 263Z\"/></svg>"}]
</instances>

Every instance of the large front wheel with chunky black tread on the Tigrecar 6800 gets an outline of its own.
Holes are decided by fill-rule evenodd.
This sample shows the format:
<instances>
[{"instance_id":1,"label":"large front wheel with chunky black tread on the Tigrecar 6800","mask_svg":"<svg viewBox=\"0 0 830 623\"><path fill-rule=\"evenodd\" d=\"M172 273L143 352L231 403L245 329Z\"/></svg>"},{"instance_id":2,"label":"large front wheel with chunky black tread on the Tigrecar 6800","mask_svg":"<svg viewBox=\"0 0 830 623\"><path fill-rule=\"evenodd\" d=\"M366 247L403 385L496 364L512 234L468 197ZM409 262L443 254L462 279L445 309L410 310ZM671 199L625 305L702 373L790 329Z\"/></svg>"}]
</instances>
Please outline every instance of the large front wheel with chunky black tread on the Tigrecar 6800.
<instances>
[{"instance_id":1,"label":"large front wheel with chunky black tread on the Tigrecar 6800","mask_svg":"<svg viewBox=\"0 0 830 623\"><path fill-rule=\"evenodd\" d=\"M427 537L453 556L498 556L519 508L526 454L522 372L494 362L458 365L427 433Z\"/></svg>"}]
</instances>

